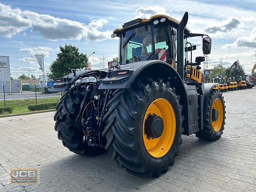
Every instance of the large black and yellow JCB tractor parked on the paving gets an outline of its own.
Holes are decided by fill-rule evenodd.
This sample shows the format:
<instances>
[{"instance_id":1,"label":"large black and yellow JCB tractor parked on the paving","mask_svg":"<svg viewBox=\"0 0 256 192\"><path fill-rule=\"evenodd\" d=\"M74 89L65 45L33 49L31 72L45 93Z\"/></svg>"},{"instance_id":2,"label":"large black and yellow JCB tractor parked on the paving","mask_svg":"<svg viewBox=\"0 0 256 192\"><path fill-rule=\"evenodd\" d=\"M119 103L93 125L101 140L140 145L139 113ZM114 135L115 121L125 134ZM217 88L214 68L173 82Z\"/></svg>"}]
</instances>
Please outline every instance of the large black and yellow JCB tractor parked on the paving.
<instances>
[{"instance_id":1,"label":"large black and yellow JCB tractor parked on the paving","mask_svg":"<svg viewBox=\"0 0 256 192\"><path fill-rule=\"evenodd\" d=\"M180 22L156 15L124 23L112 34L119 39L119 60L108 72L72 69L56 79L51 91L67 91L54 116L65 147L81 155L109 150L128 172L158 177L174 163L181 134L221 137L222 94L213 89L216 83L204 84L204 57L188 62L196 49L188 38L203 37L203 54L210 53L211 38L190 33L187 22L188 12ZM71 87L88 76L97 81Z\"/></svg>"}]
</instances>

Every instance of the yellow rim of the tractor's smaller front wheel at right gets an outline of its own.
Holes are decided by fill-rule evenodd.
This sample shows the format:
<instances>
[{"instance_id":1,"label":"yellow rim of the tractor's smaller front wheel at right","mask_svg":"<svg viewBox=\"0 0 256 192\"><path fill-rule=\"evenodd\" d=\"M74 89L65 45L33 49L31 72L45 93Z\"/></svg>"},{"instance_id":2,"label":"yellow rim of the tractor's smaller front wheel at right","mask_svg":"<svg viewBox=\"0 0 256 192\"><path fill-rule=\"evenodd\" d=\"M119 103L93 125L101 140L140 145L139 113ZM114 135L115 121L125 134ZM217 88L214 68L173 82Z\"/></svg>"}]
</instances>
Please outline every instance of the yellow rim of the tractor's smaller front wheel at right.
<instances>
[{"instance_id":1,"label":"yellow rim of the tractor's smaller front wheel at right","mask_svg":"<svg viewBox=\"0 0 256 192\"><path fill-rule=\"evenodd\" d=\"M220 99L215 99L212 105L212 110L211 110L211 116L212 116L212 111L213 109L217 109L219 116L218 119L216 121L214 121L212 119L212 128L215 132L220 131L220 128L222 126L222 122L223 122L223 105Z\"/></svg>"}]
</instances>

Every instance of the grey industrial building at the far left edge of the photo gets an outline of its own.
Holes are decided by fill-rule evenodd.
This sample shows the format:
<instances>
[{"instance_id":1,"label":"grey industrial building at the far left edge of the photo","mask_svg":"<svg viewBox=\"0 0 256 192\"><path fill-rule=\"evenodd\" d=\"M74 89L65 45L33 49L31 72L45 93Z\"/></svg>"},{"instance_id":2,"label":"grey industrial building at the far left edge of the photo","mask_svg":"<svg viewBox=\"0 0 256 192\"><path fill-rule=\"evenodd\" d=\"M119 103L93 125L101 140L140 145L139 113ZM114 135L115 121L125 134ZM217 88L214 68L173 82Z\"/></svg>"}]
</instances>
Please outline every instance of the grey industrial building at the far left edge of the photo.
<instances>
[{"instance_id":1,"label":"grey industrial building at the far left edge of the photo","mask_svg":"<svg viewBox=\"0 0 256 192\"><path fill-rule=\"evenodd\" d=\"M0 56L0 81L11 81L9 56Z\"/></svg>"}]
</instances>

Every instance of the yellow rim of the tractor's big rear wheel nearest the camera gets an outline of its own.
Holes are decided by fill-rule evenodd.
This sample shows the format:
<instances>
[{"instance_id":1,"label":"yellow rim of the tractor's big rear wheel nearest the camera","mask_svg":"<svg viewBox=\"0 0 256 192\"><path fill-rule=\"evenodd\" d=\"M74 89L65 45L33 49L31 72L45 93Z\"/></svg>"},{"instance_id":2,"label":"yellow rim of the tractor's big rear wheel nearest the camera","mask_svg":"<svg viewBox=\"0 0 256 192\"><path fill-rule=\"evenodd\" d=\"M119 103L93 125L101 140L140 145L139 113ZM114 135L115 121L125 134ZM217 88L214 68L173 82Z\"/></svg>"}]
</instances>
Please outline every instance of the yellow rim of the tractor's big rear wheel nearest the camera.
<instances>
[{"instance_id":1,"label":"yellow rim of the tractor's big rear wheel nearest the camera","mask_svg":"<svg viewBox=\"0 0 256 192\"><path fill-rule=\"evenodd\" d=\"M160 116L164 123L164 130L159 138L150 138L145 133L145 122L148 115ZM143 121L143 141L148 153L156 158L164 156L171 148L176 130L176 119L174 110L169 101L156 99L148 107Z\"/></svg>"}]
</instances>

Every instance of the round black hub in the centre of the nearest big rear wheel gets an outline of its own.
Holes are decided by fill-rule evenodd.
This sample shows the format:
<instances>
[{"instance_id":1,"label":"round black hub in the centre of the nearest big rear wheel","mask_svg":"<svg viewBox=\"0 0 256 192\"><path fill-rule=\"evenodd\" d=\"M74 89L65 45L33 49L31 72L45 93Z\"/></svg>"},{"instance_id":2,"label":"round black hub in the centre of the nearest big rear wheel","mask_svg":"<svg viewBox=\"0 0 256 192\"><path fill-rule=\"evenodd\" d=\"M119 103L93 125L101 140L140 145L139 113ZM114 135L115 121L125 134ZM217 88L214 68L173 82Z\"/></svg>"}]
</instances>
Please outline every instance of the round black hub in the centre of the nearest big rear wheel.
<instances>
[{"instance_id":1,"label":"round black hub in the centre of the nearest big rear wheel","mask_svg":"<svg viewBox=\"0 0 256 192\"><path fill-rule=\"evenodd\" d=\"M164 131L164 121L160 116L149 115L145 122L145 133L149 138L159 138Z\"/></svg>"}]
</instances>

